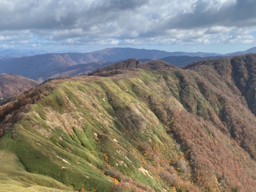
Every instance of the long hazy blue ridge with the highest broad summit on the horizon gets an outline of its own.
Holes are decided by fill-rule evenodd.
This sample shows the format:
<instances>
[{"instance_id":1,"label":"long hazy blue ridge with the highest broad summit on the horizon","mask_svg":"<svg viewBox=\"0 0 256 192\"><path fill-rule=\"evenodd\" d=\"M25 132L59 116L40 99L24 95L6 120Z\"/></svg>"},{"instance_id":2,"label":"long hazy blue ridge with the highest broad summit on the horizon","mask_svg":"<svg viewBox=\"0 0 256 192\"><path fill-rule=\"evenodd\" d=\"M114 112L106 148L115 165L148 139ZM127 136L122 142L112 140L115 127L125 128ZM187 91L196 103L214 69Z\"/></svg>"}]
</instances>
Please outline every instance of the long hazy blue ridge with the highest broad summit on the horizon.
<instances>
[{"instance_id":1,"label":"long hazy blue ridge with the highest broad summit on the horizon","mask_svg":"<svg viewBox=\"0 0 256 192\"><path fill-rule=\"evenodd\" d=\"M133 48L107 48L90 53L46 53L29 57L1 60L1 73L12 73L38 80L42 78L39 73L52 71L60 67L74 66L77 64L115 62L129 58L136 59L161 59L171 55L216 55L216 53L186 53L165 52L159 50L133 49ZM92 70L95 70L93 68ZM38 76L32 77L37 73ZM45 80L45 79L43 79Z\"/></svg>"}]
</instances>

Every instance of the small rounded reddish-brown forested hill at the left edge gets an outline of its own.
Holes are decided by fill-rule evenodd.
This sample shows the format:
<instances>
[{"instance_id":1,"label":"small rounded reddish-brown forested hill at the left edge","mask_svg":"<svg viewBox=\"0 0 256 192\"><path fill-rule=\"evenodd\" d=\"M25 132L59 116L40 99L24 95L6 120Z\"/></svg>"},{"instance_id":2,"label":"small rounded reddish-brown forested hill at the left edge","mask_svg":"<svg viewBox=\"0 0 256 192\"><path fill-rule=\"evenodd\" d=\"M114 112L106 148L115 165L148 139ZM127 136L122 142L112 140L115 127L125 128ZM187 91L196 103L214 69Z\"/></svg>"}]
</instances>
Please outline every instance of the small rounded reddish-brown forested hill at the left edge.
<instances>
[{"instance_id":1,"label":"small rounded reddish-brown forested hill at the left edge","mask_svg":"<svg viewBox=\"0 0 256 192\"><path fill-rule=\"evenodd\" d=\"M32 87L36 87L39 82L23 76L13 74L0 75L0 98L15 96Z\"/></svg>"}]
</instances>

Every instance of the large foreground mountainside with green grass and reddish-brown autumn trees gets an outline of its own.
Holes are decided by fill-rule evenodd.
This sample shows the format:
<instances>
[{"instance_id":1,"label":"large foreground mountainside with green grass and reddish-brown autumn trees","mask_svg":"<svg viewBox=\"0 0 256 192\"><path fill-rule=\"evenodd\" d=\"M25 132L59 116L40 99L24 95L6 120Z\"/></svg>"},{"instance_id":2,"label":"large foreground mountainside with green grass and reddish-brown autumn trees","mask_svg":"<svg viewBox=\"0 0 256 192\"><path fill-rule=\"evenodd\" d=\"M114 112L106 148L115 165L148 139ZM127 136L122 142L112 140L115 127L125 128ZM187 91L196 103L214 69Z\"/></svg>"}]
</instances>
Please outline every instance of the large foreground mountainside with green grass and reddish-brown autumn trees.
<instances>
[{"instance_id":1,"label":"large foreground mountainside with green grass and reddish-brown autumn trees","mask_svg":"<svg viewBox=\"0 0 256 192\"><path fill-rule=\"evenodd\" d=\"M233 81L255 57L129 59L21 93L0 106L0 191L255 191L254 81Z\"/></svg>"}]
</instances>

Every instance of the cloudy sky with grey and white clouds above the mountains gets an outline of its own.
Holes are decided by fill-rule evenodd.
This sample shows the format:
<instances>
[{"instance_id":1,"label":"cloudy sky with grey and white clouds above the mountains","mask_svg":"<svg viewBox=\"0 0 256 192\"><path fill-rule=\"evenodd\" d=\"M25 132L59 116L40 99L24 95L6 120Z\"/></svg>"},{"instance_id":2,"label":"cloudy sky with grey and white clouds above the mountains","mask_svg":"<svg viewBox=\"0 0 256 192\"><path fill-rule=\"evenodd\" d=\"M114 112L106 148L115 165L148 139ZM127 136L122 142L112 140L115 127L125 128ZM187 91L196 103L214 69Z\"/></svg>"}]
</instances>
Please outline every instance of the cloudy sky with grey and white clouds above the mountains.
<instances>
[{"instance_id":1,"label":"cloudy sky with grey and white clouds above the mountains","mask_svg":"<svg viewBox=\"0 0 256 192\"><path fill-rule=\"evenodd\" d=\"M245 51L255 10L255 0L0 0L0 50Z\"/></svg>"}]
</instances>

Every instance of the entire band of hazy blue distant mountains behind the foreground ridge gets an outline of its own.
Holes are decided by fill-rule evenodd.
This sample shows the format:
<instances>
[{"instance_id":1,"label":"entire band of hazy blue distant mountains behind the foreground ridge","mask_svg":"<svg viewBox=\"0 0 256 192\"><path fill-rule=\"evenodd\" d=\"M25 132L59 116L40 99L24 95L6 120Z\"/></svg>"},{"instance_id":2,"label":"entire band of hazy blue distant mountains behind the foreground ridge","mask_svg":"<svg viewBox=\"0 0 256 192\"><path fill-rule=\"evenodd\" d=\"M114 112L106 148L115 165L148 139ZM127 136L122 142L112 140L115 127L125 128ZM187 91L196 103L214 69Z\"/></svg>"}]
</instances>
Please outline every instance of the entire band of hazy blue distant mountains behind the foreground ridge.
<instances>
[{"instance_id":1,"label":"entire band of hazy blue distant mountains behind the foreground ridge","mask_svg":"<svg viewBox=\"0 0 256 192\"><path fill-rule=\"evenodd\" d=\"M20 50L27 51L27 50ZM245 52L254 52L256 48L251 48ZM10 56L2 56L1 53L22 54L14 53L15 50L4 50L0 52L0 74L11 73L36 81L44 81L47 78L58 77L64 74L80 75L81 73L91 72L102 66L102 62L114 63L116 61L136 58L142 62L149 60L163 60L176 66L187 65L190 62L204 59L217 59L220 57L231 57L231 55L219 55L218 53L188 53L188 52L166 52L160 50L146 50L134 48L106 48L103 50L89 52L89 53L46 53L37 54L28 57L13 58ZM60 51L61 52L61 51ZM239 52L239 54L242 52ZM243 52L244 53L244 52ZM230 53L231 54L231 53ZM236 53L232 53L236 54ZM238 54L238 53L237 53ZM15 56L15 55L12 55ZM94 63L88 67L87 65L80 65L78 68L69 68L78 64ZM83 69L83 67L85 67ZM68 72L68 70L70 71ZM60 71L59 71L60 70Z\"/></svg>"}]
</instances>

